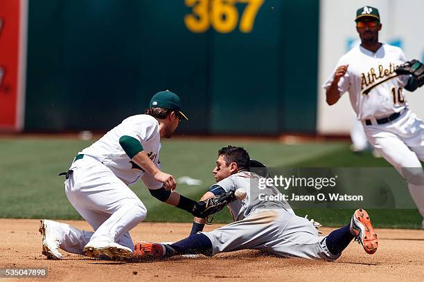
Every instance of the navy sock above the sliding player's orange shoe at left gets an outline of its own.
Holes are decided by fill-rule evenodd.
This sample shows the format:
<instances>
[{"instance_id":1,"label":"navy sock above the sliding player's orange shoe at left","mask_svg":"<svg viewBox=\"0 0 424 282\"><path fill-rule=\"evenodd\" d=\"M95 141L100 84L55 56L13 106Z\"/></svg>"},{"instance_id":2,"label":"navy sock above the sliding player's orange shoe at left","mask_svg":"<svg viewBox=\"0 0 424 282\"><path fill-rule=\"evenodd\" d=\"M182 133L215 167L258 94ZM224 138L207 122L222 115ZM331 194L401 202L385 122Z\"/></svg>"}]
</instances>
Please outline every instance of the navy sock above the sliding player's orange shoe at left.
<instances>
[{"instance_id":1,"label":"navy sock above the sliding player's orange shoe at left","mask_svg":"<svg viewBox=\"0 0 424 282\"><path fill-rule=\"evenodd\" d=\"M165 256L174 256L176 254L212 254L212 242L204 234L194 234L182 239L176 243L170 244L169 247L173 248L175 252L168 254L169 248L166 248Z\"/></svg>"}]
</instances>

